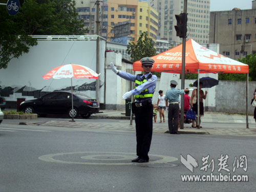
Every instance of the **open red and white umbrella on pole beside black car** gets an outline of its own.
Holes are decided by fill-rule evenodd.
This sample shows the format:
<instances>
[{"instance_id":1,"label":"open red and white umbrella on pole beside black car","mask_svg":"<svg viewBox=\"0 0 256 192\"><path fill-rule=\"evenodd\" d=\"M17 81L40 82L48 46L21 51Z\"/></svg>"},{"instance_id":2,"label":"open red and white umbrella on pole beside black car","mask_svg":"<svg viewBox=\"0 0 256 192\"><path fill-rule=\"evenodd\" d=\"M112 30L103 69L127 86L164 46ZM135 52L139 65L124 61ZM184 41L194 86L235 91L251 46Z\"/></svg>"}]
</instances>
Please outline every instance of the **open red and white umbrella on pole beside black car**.
<instances>
[{"instance_id":1,"label":"open red and white umbrella on pole beside black car","mask_svg":"<svg viewBox=\"0 0 256 192\"><path fill-rule=\"evenodd\" d=\"M51 77L54 79L61 78L71 78L71 100L72 100L72 121L74 121L74 107L73 107L73 88L72 88L72 78L93 78L98 79L100 74L97 74L90 68L86 66L80 66L75 64L68 64L56 67L49 71L46 75L43 75L42 78L50 79Z\"/></svg>"}]
</instances>

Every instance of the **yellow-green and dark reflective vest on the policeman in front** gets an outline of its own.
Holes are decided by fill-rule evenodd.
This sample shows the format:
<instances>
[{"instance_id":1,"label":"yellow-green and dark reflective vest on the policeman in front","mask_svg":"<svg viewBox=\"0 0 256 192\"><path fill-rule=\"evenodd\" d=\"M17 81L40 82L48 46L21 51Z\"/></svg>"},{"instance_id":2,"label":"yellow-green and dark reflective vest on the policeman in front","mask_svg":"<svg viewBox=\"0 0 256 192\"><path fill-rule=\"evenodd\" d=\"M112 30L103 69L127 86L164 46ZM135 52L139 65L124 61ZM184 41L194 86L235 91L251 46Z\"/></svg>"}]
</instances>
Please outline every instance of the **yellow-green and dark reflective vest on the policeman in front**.
<instances>
[{"instance_id":1,"label":"yellow-green and dark reflective vest on the policeman in front","mask_svg":"<svg viewBox=\"0 0 256 192\"><path fill-rule=\"evenodd\" d=\"M152 74L149 74L147 76L147 78L145 79L141 79L141 76L142 74L139 74L136 76L136 79L135 79L135 86L134 86L134 89L136 89L138 86L140 86L142 83L146 82L148 79L150 79L152 77ZM155 90L154 90L155 92ZM149 93L147 89L143 90L139 95L134 95L134 97L136 98L137 101L140 101L140 100L144 100L145 98L152 98L153 97L153 93Z\"/></svg>"}]
</instances>

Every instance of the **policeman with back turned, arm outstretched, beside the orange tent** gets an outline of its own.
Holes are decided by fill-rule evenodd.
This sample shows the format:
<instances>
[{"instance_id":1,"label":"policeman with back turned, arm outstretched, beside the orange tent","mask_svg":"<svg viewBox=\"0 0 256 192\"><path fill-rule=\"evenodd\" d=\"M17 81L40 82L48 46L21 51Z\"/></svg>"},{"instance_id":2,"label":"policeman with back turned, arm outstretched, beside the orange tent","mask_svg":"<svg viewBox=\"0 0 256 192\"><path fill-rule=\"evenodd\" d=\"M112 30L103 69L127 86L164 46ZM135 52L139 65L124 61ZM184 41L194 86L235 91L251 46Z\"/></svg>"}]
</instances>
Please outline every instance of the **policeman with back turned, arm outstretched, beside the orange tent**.
<instances>
[{"instance_id":1,"label":"policeman with back turned, arm outstretched, beside the orange tent","mask_svg":"<svg viewBox=\"0 0 256 192\"><path fill-rule=\"evenodd\" d=\"M180 134L178 132L179 124L179 95L184 94L184 91L189 91L188 89L177 90L177 81L170 81L170 89L165 94L165 106L168 106L168 128L170 134ZM169 102L169 105L167 105Z\"/></svg>"}]
</instances>

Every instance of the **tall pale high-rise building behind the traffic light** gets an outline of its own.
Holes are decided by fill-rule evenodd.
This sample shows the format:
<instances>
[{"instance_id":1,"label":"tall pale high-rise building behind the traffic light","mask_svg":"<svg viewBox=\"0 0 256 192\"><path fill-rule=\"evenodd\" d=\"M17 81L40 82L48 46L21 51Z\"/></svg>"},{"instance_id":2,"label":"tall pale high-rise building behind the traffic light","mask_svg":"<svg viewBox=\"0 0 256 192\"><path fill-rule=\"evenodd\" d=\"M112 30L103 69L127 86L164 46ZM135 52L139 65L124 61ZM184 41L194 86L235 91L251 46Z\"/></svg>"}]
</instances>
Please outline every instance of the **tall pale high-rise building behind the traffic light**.
<instances>
[{"instance_id":1,"label":"tall pale high-rise building behind the traffic light","mask_svg":"<svg viewBox=\"0 0 256 192\"><path fill-rule=\"evenodd\" d=\"M174 46L181 44L182 38L176 36L174 26L177 25L175 15L183 13L184 1L149 0L149 4L159 12L158 37L168 40ZM188 0L187 13L187 38L199 44L208 44L210 0Z\"/></svg>"}]
</instances>

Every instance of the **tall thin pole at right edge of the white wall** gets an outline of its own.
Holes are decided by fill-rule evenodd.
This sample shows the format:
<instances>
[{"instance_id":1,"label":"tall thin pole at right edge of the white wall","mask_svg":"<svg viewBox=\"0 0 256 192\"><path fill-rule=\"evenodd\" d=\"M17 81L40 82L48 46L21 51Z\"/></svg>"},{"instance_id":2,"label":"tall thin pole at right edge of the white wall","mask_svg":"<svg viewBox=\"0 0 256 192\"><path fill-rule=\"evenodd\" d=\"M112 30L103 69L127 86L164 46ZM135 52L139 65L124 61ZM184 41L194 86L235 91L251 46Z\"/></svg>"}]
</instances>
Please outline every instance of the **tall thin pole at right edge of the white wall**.
<instances>
[{"instance_id":1,"label":"tall thin pole at right edge of the white wall","mask_svg":"<svg viewBox=\"0 0 256 192\"><path fill-rule=\"evenodd\" d=\"M96 34L97 34L97 40L96 40L96 73L99 74L99 1L96 1ZM100 103L99 100L99 78L96 79L96 99Z\"/></svg>"}]
</instances>

